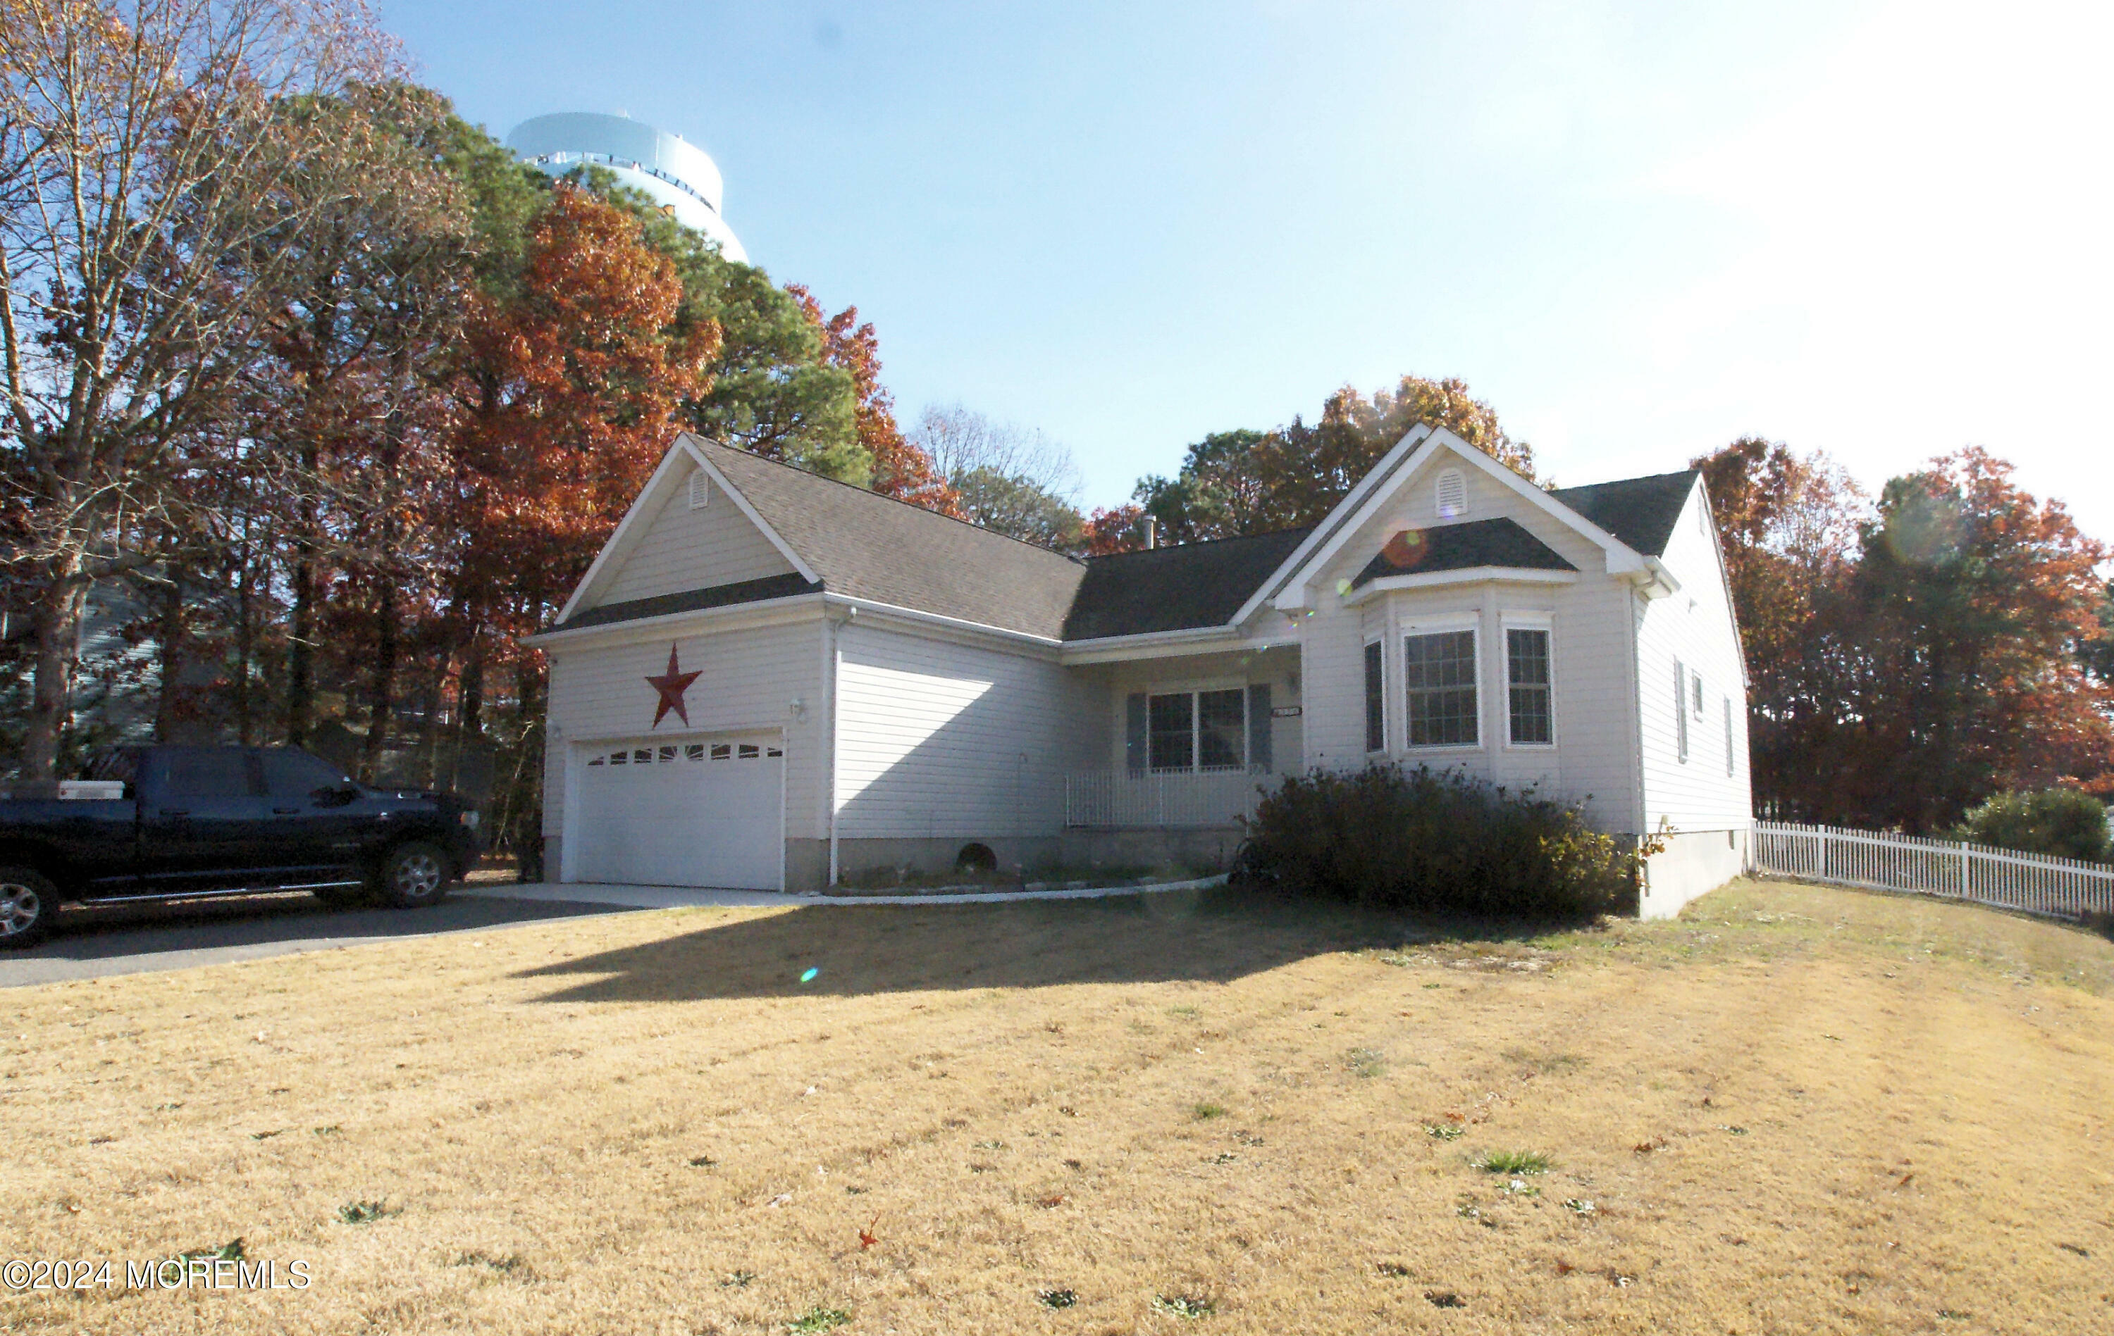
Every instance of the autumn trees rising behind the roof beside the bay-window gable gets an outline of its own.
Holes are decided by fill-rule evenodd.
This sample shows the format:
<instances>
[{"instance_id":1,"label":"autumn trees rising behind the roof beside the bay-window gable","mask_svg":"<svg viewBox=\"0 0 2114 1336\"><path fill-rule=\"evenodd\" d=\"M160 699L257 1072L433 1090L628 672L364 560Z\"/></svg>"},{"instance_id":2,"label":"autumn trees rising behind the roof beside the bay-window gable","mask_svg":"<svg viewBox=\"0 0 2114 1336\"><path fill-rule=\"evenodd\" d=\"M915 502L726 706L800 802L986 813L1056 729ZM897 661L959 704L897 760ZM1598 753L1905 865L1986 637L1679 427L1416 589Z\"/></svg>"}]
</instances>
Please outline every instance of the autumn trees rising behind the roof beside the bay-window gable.
<instances>
[{"instance_id":1,"label":"autumn trees rising behind the roof beside the bay-window gable","mask_svg":"<svg viewBox=\"0 0 2114 1336\"><path fill-rule=\"evenodd\" d=\"M1319 524L1418 423L1446 427L1505 467L1535 476L1533 448L1514 440L1467 385L1402 376L1370 397L1338 389L1313 423L1207 435L1188 448L1175 478L1144 478L1133 499L1171 543Z\"/></svg>"}]
</instances>

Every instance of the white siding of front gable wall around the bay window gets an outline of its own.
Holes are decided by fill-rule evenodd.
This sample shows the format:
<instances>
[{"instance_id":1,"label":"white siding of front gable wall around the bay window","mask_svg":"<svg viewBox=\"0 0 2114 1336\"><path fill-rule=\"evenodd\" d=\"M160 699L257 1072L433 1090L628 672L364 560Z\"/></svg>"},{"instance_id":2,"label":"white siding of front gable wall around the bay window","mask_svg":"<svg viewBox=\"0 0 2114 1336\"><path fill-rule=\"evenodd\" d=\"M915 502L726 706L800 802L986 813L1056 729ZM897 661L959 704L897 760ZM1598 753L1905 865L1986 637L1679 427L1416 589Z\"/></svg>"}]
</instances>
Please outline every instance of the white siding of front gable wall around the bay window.
<instances>
[{"instance_id":1,"label":"white siding of front gable wall around the bay window","mask_svg":"<svg viewBox=\"0 0 2114 1336\"><path fill-rule=\"evenodd\" d=\"M1442 522L1438 476L1459 469L1467 484L1463 520L1512 518L1579 569L1573 583L1467 583L1397 590L1347 607L1336 594L1389 535ZM1366 643L1378 638L1387 674L1389 755L1410 765L1454 767L1492 782L1586 803L1609 831L1634 831L1636 769L1632 763L1630 628L1634 594L1607 575L1598 545L1541 512L1478 469L1446 454L1410 476L1372 522L1349 541L1317 583L1317 607L1300 619L1306 645L1306 763L1357 767L1366 753ZM1545 617L1554 660L1552 704L1556 744L1507 746L1505 626L1507 613L1533 624ZM1476 628L1480 649L1480 742L1473 748L1408 748L1402 638L1418 624ZM1670 689L1668 689L1670 691Z\"/></svg>"}]
</instances>

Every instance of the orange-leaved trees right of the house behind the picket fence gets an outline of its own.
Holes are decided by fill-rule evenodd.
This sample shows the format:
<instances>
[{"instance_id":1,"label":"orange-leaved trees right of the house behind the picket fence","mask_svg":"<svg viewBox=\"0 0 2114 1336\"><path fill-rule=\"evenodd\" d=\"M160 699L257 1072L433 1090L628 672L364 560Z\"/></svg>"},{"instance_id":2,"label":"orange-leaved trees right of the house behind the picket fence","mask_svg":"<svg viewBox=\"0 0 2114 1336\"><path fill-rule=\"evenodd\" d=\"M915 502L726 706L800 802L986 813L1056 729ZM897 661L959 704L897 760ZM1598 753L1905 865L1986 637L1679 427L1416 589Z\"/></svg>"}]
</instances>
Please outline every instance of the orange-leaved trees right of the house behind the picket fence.
<instances>
[{"instance_id":1,"label":"orange-leaved trees right of the house behind the picket fence","mask_svg":"<svg viewBox=\"0 0 2114 1336\"><path fill-rule=\"evenodd\" d=\"M2108 552L1960 450L1877 507L1824 457L1740 440L1693 461L1725 539L1755 797L1788 820L1943 831L2002 788L2103 788Z\"/></svg>"}]
</instances>

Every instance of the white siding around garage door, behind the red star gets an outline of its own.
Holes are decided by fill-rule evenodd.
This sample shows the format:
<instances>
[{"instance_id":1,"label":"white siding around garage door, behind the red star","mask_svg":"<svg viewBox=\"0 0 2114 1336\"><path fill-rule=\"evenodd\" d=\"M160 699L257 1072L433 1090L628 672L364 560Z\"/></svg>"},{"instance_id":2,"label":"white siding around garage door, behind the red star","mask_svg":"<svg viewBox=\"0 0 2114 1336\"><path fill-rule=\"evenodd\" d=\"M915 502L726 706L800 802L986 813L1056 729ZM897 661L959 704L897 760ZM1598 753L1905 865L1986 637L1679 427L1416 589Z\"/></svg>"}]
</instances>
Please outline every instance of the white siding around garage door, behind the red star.
<instances>
[{"instance_id":1,"label":"white siding around garage door, behind the red star","mask_svg":"<svg viewBox=\"0 0 2114 1336\"><path fill-rule=\"evenodd\" d=\"M668 670L674 643L683 672L700 672L685 693L689 727L674 715L653 727L660 700L647 676ZM805 719L791 702L801 700ZM550 651L552 740L543 755L543 833L564 833L567 759L594 738L655 738L784 731L786 837L827 835L822 808L822 619L727 630L670 632L643 643L554 647ZM550 869L552 875L558 869Z\"/></svg>"}]
</instances>

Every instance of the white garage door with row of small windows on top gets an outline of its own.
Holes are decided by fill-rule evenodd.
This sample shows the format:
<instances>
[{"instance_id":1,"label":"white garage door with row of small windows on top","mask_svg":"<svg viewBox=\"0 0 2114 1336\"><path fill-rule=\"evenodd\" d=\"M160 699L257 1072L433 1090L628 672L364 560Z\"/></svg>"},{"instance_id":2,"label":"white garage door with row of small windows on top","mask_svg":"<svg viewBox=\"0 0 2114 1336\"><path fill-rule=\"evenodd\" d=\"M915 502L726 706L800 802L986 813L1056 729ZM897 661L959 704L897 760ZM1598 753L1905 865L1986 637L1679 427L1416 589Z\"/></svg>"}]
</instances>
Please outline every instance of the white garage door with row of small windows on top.
<instances>
[{"instance_id":1,"label":"white garage door with row of small windows on top","mask_svg":"<svg viewBox=\"0 0 2114 1336\"><path fill-rule=\"evenodd\" d=\"M784 888L776 736L577 748L573 882Z\"/></svg>"}]
</instances>

